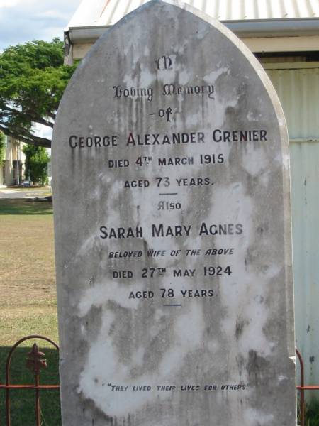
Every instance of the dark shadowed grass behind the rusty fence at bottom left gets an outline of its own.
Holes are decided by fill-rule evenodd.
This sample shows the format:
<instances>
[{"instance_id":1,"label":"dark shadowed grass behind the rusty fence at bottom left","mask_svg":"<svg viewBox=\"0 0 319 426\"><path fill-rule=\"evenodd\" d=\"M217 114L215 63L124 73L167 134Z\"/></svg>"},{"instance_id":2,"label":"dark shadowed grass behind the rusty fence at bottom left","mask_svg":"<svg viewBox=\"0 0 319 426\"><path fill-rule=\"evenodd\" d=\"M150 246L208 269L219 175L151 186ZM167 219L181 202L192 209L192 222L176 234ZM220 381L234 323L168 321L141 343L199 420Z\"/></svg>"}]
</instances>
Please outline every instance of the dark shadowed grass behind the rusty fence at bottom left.
<instances>
[{"instance_id":1,"label":"dark shadowed grass behind the rusty fence at bottom left","mask_svg":"<svg viewBox=\"0 0 319 426\"><path fill-rule=\"evenodd\" d=\"M34 343L33 341L32 344ZM43 342L43 341L42 341ZM59 383L59 359L56 349L41 346L44 352L47 368L40 373L41 385L56 385ZM30 343L29 343L30 344ZM6 380L6 358L10 347L0 347L0 383ZM11 359L11 384L33 384L34 376L26 368L26 357L30 346L18 347ZM35 391L33 389L13 389L10 391L11 426L35 426ZM60 426L60 391L58 389L40 390L40 418L43 426ZM6 391L0 389L0 425L6 424Z\"/></svg>"}]
</instances>

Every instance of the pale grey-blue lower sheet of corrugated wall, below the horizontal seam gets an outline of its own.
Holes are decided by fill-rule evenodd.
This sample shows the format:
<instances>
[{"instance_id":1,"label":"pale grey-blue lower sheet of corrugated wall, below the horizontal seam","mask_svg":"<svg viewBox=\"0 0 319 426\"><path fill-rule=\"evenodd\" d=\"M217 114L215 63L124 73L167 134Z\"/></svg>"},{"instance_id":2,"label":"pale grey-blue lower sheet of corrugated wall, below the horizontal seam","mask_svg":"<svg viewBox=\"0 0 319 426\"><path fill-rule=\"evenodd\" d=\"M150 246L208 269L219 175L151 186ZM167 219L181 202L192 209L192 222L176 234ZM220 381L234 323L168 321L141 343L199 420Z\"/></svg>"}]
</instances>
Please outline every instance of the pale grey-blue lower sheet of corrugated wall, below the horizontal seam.
<instances>
[{"instance_id":1,"label":"pale grey-blue lower sheet of corrugated wall, below the horizontal seam","mask_svg":"<svg viewBox=\"0 0 319 426\"><path fill-rule=\"evenodd\" d=\"M308 384L319 383L319 142L291 143L296 342Z\"/></svg>"}]
</instances>

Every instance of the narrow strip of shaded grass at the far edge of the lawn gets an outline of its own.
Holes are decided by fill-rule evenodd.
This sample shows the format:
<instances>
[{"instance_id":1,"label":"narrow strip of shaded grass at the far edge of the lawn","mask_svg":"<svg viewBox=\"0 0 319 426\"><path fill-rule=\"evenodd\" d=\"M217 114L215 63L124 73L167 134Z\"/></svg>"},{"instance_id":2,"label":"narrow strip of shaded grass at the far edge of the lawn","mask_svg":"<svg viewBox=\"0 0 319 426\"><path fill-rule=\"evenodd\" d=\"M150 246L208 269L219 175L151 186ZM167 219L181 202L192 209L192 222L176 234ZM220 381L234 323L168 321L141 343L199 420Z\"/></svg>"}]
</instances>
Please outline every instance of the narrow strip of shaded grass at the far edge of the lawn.
<instances>
[{"instance_id":1,"label":"narrow strip of shaded grass at the far edge of the lawn","mask_svg":"<svg viewBox=\"0 0 319 426\"><path fill-rule=\"evenodd\" d=\"M1 214L52 214L52 202L30 200L0 200Z\"/></svg>"}]
</instances>

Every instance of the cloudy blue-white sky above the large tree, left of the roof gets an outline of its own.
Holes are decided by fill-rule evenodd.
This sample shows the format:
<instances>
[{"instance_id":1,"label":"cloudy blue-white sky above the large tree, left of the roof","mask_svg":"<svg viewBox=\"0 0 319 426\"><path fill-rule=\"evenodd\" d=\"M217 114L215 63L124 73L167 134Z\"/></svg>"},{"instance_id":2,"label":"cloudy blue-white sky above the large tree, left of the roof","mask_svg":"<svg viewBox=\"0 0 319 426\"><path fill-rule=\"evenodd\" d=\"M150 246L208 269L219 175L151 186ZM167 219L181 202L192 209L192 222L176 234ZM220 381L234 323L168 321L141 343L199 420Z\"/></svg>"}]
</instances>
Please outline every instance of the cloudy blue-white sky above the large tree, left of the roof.
<instances>
[{"instance_id":1,"label":"cloudy blue-white sky above the large tree, left of the roof","mask_svg":"<svg viewBox=\"0 0 319 426\"><path fill-rule=\"evenodd\" d=\"M63 39L81 0L0 0L0 51L32 40Z\"/></svg>"}]
</instances>

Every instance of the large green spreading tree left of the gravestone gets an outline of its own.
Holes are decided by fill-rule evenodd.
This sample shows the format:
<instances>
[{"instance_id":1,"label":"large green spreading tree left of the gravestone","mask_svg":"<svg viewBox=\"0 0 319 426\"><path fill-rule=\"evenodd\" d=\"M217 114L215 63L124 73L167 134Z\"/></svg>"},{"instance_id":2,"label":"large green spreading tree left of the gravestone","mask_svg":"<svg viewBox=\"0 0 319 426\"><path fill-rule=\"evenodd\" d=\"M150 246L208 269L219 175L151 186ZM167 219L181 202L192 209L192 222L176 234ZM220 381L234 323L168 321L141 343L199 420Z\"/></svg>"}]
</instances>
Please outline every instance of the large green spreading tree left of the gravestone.
<instances>
[{"instance_id":1,"label":"large green spreading tree left of the gravestone","mask_svg":"<svg viewBox=\"0 0 319 426\"><path fill-rule=\"evenodd\" d=\"M0 55L0 131L35 146L50 147L35 136L35 123L53 127L57 107L75 70L63 65L63 43L33 41Z\"/></svg>"}]
</instances>

